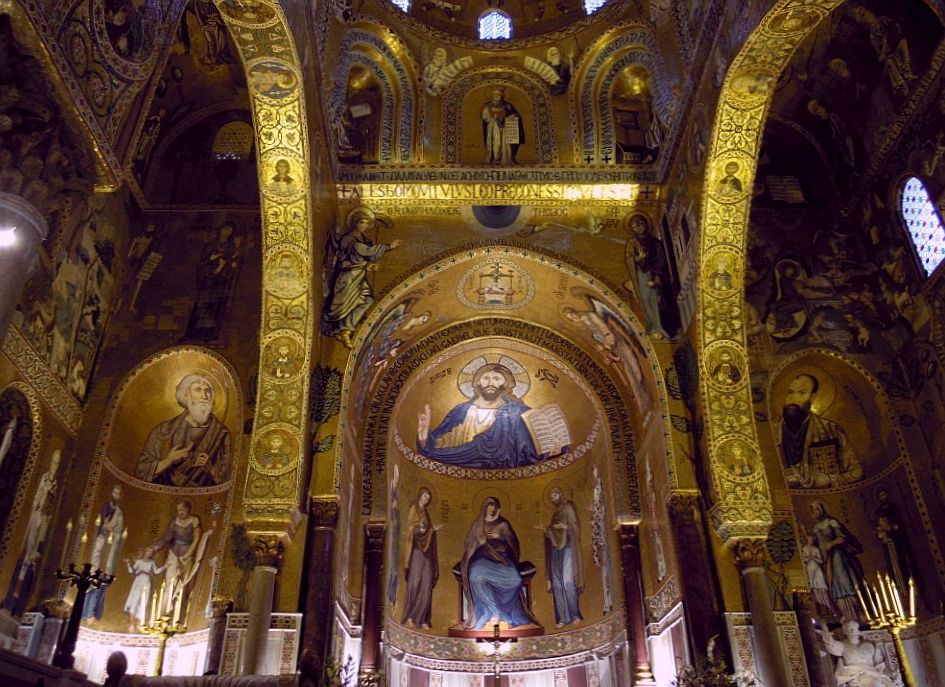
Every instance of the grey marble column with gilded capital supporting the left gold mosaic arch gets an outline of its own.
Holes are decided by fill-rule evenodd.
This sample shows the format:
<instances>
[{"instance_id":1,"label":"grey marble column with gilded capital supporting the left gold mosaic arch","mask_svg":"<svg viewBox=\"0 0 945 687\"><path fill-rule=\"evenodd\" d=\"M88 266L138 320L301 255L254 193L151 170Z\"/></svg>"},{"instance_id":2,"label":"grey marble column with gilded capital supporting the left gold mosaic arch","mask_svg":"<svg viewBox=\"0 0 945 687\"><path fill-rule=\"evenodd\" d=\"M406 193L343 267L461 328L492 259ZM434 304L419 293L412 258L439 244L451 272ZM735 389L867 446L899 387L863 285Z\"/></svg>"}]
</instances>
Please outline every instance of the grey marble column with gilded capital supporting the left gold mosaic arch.
<instances>
[{"instance_id":1,"label":"grey marble column with gilded capital supporting the left gold mosaic arch","mask_svg":"<svg viewBox=\"0 0 945 687\"><path fill-rule=\"evenodd\" d=\"M282 563L282 541L278 537L257 537L253 540L256 565L252 574L252 597L249 620L243 638L241 675L258 675L266 662L266 644L272 621L272 603L276 594L276 575Z\"/></svg>"}]
</instances>

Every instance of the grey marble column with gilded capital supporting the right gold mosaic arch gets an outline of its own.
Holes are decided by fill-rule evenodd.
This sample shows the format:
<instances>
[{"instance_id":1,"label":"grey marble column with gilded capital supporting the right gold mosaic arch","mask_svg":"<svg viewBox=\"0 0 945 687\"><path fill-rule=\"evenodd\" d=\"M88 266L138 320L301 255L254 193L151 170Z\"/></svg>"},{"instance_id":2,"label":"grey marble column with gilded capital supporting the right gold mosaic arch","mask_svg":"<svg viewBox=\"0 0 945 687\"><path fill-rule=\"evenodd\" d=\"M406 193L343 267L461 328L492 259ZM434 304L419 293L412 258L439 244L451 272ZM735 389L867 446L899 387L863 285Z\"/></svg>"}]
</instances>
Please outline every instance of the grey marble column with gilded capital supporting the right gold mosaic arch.
<instances>
[{"instance_id":1,"label":"grey marble column with gilded capital supporting the right gold mosaic arch","mask_svg":"<svg viewBox=\"0 0 945 687\"><path fill-rule=\"evenodd\" d=\"M738 539L732 546L751 613L755 666L765 687L791 687L791 673L781 651L778 624L765 576L765 540Z\"/></svg>"}]
</instances>

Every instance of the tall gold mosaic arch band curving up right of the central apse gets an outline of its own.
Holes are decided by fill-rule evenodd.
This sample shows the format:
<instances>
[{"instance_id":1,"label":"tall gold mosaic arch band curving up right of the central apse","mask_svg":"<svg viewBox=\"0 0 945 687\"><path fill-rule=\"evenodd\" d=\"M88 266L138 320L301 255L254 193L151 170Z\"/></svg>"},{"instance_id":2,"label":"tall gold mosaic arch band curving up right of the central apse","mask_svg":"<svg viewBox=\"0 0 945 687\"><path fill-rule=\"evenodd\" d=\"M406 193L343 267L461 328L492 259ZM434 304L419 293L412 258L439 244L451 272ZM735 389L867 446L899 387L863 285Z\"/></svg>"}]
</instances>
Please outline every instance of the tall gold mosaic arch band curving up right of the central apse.
<instances>
[{"instance_id":1,"label":"tall gold mosaic arch band curving up right of the central apse","mask_svg":"<svg viewBox=\"0 0 945 687\"><path fill-rule=\"evenodd\" d=\"M796 48L842 0L779 0L749 35L726 74L715 122L703 187L703 230L699 256L699 366L710 379L708 359L722 352L747 372L748 349L743 325L744 266L751 188L764 124L778 76ZM732 177L737 179L734 183ZM725 261L720 258L725 256ZM710 288L705 275L734 258L731 288ZM758 456L748 375L727 383L705 383L706 442L715 505L712 519L723 541L766 536L772 521L767 478L756 470L748 479L722 468L736 447Z\"/></svg>"}]
</instances>

